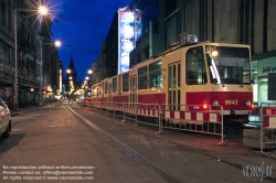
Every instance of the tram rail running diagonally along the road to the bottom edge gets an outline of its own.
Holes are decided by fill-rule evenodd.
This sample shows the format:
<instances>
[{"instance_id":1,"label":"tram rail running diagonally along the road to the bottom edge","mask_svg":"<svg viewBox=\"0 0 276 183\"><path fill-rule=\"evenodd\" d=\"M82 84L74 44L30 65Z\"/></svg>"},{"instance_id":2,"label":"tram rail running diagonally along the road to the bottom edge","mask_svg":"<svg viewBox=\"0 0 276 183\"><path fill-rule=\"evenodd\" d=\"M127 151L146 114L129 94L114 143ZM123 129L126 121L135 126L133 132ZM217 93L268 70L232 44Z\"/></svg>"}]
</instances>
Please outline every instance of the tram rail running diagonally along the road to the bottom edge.
<instances>
[{"instance_id":1,"label":"tram rail running diagonally along the road to the bottom edge","mask_svg":"<svg viewBox=\"0 0 276 183\"><path fill-rule=\"evenodd\" d=\"M144 157L141 157L138 152L136 152L135 150L130 149L129 147L127 147L126 144L124 144L123 142L120 142L119 140L117 140L116 138L114 138L113 136L110 136L109 133L107 133L106 131L104 131L103 129L100 129L99 127L97 127L96 125L94 125L92 121L87 120L86 118L84 118L83 116L81 116L79 114L77 114L76 111L74 111L72 108L68 107L68 109L74 115L76 115L78 118L81 118L83 121L85 121L87 125L89 125L94 130L96 130L97 132L99 132L100 134L103 134L104 137L106 137L107 139L109 139L112 142L114 142L117 147L119 147L126 153L128 153L129 155L131 155L134 159L136 159L141 164L146 165L148 169L150 169L151 171L153 171L155 173L157 173L159 176L163 177L169 183L178 183L179 182L176 179L173 179L170 175L168 175L162 170L160 170L152 162L150 162L149 160L147 160Z\"/></svg>"}]
</instances>

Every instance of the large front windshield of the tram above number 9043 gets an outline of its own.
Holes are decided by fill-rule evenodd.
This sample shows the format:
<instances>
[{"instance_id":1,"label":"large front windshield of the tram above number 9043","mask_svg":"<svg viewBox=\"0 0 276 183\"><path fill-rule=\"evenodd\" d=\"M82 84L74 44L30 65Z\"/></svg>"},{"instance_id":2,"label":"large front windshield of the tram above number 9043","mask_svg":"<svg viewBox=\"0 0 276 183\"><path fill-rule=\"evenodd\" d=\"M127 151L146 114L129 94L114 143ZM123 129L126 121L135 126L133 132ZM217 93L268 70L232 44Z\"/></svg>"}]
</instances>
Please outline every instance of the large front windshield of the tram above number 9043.
<instances>
[{"instance_id":1,"label":"large front windshield of the tram above number 9043","mask_svg":"<svg viewBox=\"0 0 276 183\"><path fill-rule=\"evenodd\" d=\"M250 50L247 47L206 46L212 84L250 84Z\"/></svg>"}]
</instances>

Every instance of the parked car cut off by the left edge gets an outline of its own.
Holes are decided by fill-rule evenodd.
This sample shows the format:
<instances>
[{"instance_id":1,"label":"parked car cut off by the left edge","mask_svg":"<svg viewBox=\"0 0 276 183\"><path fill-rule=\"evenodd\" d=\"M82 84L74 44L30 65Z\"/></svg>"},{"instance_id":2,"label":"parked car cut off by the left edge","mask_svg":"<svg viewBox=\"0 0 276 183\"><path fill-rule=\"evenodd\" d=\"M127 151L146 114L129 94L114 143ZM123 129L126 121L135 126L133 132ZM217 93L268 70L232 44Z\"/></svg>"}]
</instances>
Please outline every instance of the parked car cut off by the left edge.
<instances>
[{"instance_id":1,"label":"parked car cut off by the left edge","mask_svg":"<svg viewBox=\"0 0 276 183\"><path fill-rule=\"evenodd\" d=\"M9 107L0 98L0 133L8 138L11 132L11 114Z\"/></svg>"}]
</instances>

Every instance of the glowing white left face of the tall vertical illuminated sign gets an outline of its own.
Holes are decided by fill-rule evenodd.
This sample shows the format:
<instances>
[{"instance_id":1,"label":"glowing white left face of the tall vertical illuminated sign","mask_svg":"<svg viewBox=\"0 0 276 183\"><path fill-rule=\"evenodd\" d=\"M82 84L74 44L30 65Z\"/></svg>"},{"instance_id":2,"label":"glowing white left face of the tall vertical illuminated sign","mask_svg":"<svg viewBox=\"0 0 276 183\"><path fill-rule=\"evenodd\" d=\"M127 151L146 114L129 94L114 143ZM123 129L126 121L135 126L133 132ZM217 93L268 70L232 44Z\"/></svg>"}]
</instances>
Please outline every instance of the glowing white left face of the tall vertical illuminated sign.
<instances>
[{"instance_id":1,"label":"glowing white left face of the tall vertical illuminated sign","mask_svg":"<svg viewBox=\"0 0 276 183\"><path fill-rule=\"evenodd\" d=\"M134 50L134 14L131 7L118 9L118 74L129 69L129 53Z\"/></svg>"}]
</instances>

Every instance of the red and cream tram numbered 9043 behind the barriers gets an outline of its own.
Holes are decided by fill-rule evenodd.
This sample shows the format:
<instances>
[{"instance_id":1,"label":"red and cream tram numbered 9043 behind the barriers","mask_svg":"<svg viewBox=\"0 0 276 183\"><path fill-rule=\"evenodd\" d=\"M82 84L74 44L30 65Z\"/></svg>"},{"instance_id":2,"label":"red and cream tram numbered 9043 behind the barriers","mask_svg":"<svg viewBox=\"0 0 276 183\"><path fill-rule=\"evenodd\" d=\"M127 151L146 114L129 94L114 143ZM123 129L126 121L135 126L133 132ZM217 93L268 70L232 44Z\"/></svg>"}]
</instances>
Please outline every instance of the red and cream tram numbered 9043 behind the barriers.
<instances>
[{"instance_id":1,"label":"red and cream tram numbered 9043 behind the barriers","mask_svg":"<svg viewBox=\"0 0 276 183\"><path fill-rule=\"evenodd\" d=\"M251 74L248 45L184 42L94 85L92 101L159 104L174 111L220 106L224 118L244 122L253 104Z\"/></svg>"}]
</instances>

